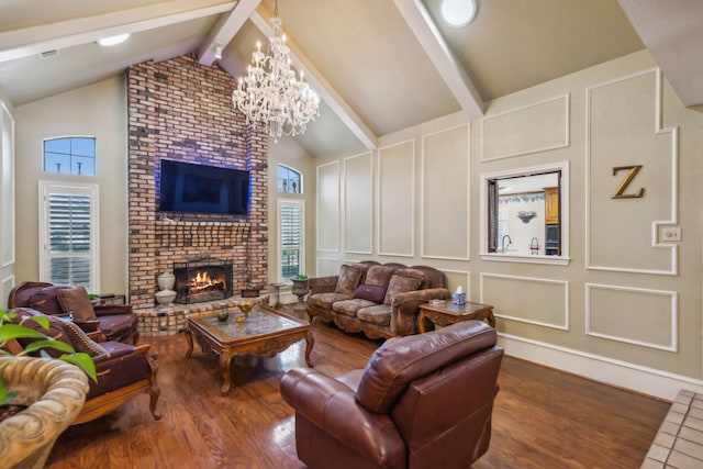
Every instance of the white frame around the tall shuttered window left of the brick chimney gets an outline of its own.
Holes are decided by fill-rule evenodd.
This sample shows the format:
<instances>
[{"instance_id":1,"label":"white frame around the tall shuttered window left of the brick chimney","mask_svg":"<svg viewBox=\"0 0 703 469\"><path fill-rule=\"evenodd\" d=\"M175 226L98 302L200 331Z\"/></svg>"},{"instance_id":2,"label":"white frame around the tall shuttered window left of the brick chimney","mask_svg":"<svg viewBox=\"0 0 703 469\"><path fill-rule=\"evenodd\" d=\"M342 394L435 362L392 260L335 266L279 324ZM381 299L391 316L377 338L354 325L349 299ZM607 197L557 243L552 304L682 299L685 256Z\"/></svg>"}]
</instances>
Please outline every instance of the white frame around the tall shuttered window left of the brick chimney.
<instances>
[{"instance_id":1,"label":"white frame around the tall shuttered window left of the brick chimney","mask_svg":"<svg viewBox=\"0 0 703 469\"><path fill-rule=\"evenodd\" d=\"M56 181L40 180L40 280L51 282L51 259L49 249L49 205L48 196L51 193L62 194L85 194L90 199L90 286L89 292L100 292L100 187L97 183L65 183ZM62 257L62 256L56 256ZM70 257L70 256L66 256Z\"/></svg>"}]
</instances>

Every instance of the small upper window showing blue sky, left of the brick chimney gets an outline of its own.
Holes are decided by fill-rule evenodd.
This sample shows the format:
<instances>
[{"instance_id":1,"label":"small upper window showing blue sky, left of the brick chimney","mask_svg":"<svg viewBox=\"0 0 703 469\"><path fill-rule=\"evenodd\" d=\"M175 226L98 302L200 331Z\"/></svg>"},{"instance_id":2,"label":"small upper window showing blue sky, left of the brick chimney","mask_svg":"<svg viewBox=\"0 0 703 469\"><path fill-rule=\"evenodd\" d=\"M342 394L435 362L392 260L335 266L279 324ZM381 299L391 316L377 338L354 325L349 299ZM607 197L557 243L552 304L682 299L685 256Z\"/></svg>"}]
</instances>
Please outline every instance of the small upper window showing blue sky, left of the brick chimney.
<instances>
[{"instance_id":1,"label":"small upper window showing blue sky, left of the brick chimney","mask_svg":"<svg viewBox=\"0 0 703 469\"><path fill-rule=\"evenodd\" d=\"M93 137L45 139L44 171L96 176L96 139Z\"/></svg>"}]
</instances>

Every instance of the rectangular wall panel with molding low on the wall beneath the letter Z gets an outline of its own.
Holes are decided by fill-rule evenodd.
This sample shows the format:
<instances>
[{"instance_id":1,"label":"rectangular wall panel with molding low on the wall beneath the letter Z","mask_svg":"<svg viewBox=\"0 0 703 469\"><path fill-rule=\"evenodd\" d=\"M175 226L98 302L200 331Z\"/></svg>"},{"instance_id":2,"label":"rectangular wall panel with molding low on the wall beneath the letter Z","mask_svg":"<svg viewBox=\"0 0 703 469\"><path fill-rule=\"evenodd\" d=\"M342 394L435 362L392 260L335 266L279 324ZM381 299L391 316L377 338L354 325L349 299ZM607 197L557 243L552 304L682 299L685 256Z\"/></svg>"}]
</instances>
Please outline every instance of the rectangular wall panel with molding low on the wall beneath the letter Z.
<instances>
[{"instance_id":1,"label":"rectangular wall panel with molding low on the wall beneath the letter Z","mask_svg":"<svg viewBox=\"0 0 703 469\"><path fill-rule=\"evenodd\" d=\"M592 308L594 303L594 294L598 290L602 290L605 293L610 293L611 297L620 295L621 301L601 301L601 303L613 304L613 311L609 311L606 306ZM640 297L641 304L635 305L636 297ZM663 304L659 305L656 301L656 297L660 303L666 303L669 310L663 310ZM629 304L632 308L623 310L620 305ZM650 308L650 311L647 311ZM627 314L632 316L627 316ZM598 322L594 316L602 315L600 317L602 323L605 323L605 327L611 326L613 331L596 331ZM648 317L644 317L647 315ZM620 317L618 317L620 316ZM614 323L616 320L621 322L622 334L618 335L617 325ZM632 327L633 323L639 324L639 327ZM648 340L646 337L636 338L633 333L643 333L645 327L643 324L650 325L650 335L662 333L666 334L661 337L661 343L655 343ZM662 324L666 327L662 327ZM602 326L603 327L603 326ZM605 328L603 327L603 328ZM666 328L668 328L668 334ZM632 287L617 287L611 284L585 284L585 335L592 337L600 337L607 340L622 342L625 344L639 345L647 348L656 348L667 351L678 351L679 349L679 315L678 315L678 293L676 291L663 290L650 290L643 288ZM631 333L629 336L625 334Z\"/></svg>"}]
</instances>

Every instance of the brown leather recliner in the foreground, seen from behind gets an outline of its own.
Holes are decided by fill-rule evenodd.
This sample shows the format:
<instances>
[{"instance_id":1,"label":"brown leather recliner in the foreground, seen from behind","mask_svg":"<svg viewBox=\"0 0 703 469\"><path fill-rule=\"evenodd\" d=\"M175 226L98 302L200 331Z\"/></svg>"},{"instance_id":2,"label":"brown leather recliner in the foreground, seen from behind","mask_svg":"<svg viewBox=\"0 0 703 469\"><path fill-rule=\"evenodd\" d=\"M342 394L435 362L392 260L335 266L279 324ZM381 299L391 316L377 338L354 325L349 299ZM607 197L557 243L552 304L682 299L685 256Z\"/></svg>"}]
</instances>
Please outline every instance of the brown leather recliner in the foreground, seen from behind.
<instances>
[{"instance_id":1,"label":"brown leather recliner in the foreground, seen from behind","mask_svg":"<svg viewBox=\"0 0 703 469\"><path fill-rule=\"evenodd\" d=\"M295 410L309 468L468 468L489 447L503 349L478 321L386 342L364 370L338 378L293 369L281 395Z\"/></svg>"}]
</instances>

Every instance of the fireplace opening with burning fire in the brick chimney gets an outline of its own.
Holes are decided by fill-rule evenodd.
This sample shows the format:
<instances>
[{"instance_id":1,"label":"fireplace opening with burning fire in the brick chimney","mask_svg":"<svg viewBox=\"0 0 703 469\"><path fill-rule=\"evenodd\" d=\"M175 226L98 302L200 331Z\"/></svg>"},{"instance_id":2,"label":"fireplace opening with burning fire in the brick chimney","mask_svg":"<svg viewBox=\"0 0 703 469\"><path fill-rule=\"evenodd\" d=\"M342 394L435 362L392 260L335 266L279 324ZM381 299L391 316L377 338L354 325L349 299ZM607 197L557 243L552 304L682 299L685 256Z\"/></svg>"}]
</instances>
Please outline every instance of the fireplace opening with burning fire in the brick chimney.
<instances>
[{"instance_id":1,"label":"fireplace opening with burning fire in the brick chimney","mask_svg":"<svg viewBox=\"0 0 703 469\"><path fill-rule=\"evenodd\" d=\"M200 303L232 297L232 261L201 257L174 263L176 303Z\"/></svg>"}]
</instances>

